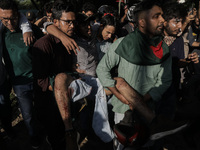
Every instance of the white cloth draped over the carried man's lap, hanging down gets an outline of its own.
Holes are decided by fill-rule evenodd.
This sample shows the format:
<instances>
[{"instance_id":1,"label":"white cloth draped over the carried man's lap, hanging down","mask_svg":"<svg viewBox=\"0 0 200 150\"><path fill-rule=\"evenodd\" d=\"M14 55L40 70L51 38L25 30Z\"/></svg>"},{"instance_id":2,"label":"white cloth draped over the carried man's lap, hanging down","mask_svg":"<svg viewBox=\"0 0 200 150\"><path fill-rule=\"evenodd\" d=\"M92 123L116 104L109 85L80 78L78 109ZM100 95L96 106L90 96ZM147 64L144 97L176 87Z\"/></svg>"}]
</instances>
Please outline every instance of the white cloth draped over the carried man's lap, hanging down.
<instances>
[{"instance_id":1,"label":"white cloth draped over the carried man's lap, hanging down","mask_svg":"<svg viewBox=\"0 0 200 150\"><path fill-rule=\"evenodd\" d=\"M114 133L108 121L108 109L105 91L98 78L85 75L81 80L74 80L69 88L73 88L72 101L76 102L91 92L95 99L95 108L92 120L92 127L96 135L105 143L110 142L114 138ZM89 85L88 85L89 84ZM92 88L91 88L92 87ZM93 89L91 91L91 89Z\"/></svg>"}]
</instances>

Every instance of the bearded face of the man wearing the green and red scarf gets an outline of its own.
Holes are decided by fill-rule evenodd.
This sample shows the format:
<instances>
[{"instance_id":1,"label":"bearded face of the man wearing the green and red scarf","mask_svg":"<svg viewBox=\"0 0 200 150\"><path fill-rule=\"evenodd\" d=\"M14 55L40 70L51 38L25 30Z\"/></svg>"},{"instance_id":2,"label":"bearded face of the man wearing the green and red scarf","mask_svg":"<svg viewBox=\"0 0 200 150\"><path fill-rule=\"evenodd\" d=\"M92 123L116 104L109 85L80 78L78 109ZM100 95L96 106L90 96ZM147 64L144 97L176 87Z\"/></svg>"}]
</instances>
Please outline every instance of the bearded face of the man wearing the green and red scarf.
<instances>
[{"instance_id":1,"label":"bearded face of the man wearing the green and red scarf","mask_svg":"<svg viewBox=\"0 0 200 150\"><path fill-rule=\"evenodd\" d=\"M152 9L146 12L144 30L149 37L162 34L164 23L162 14L163 11L159 6L153 6Z\"/></svg>"}]
</instances>

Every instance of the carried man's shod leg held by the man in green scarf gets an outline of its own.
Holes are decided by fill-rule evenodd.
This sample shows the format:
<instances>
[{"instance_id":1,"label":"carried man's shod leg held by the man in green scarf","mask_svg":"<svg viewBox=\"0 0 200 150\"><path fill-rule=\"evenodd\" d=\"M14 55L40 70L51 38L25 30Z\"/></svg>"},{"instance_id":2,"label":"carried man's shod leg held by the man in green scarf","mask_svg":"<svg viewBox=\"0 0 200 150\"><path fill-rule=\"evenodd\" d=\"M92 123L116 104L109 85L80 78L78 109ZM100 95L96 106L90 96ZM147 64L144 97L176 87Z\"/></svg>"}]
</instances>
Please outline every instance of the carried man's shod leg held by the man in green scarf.
<instances>
[{"instance_id":1,"label":"carried man's shod leg held by the man in green scarf","mask_svg":"<svg viewBox=\"0 0 200 150\"><path fill-rule=\"evenodd\" d=\"M130 102L130 108L135 109L150 127L150 139L157 140L164 136L174 134L187 127L187 122L174 122L164 116L156 116L148 108L143 97L134 90L123 78L115 78L116 88ZM126 117L126 116L125 116ZM124 118L125 118L124 117Z\"/></svg>"}]
</instances>

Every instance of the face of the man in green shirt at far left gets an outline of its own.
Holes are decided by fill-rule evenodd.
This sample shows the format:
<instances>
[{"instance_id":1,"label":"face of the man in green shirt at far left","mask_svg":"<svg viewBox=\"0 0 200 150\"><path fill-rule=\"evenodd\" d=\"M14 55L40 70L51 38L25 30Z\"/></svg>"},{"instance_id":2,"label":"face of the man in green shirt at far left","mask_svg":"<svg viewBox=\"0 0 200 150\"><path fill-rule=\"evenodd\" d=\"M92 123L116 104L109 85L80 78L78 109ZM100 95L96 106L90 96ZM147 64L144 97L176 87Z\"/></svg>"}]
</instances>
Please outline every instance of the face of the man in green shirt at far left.
<instances>
[{"instance_id":1,"label":"face of the man in green shirt at far left","mask_svg":"<svg viewBox=\"0 0 200 150\"><path fill-rule=\"evenodd\" d=\"M10 9L0 8L0 19L3 25L11 32L15 31L18 27L18 12L14 12Z\"/></svg>"}]
</instances>

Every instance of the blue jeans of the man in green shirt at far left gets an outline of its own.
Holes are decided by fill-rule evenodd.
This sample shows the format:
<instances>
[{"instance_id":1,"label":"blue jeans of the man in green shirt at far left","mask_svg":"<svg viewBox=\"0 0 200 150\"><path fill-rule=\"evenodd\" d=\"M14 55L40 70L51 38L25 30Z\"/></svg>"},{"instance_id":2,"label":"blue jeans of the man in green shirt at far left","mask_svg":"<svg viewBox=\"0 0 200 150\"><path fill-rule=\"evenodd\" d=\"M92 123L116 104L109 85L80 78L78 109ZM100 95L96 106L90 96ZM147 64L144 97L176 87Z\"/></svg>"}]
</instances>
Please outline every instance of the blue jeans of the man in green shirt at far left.
<instances>
[{"instance_id":1,"label":"blue jeans of the man in green shirt at far left","mask_svg":"<svg viewBox=\"0 0 200 150\"><path fill-rule=\"evenodd\" d=\"M13 90L17 95L19 108L29 135L35 136L35 122L33 121L33 83L13 85Z\"/></svg>"}]
</instances>

